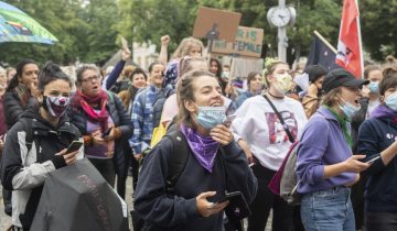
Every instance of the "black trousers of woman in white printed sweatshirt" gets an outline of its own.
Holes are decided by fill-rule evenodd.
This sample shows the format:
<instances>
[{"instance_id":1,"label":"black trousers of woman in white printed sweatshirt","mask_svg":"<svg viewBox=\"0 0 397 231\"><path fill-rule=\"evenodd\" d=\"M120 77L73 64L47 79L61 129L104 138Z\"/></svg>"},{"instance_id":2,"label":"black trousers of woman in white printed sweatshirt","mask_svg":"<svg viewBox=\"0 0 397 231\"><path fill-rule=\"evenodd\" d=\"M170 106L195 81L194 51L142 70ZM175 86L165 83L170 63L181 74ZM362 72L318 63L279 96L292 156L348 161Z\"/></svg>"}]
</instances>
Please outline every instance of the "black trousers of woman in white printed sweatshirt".
<instances>
[{"instance_id":1,"label":"black trousers of woman in white printed sweatshirt","mask_svg":"<svg viewBox=\"0 0 397 231\"><path fill-rule=\"evenodd\" d=\"M268 188L268 184L276 172L260 164L256 164L251 168L258 179L258 191L250 205L251 215L248 217L248 231L264 231L271 208L273 209L271 230L292 231L293 207Z\"/></svg>"}]
</instances>

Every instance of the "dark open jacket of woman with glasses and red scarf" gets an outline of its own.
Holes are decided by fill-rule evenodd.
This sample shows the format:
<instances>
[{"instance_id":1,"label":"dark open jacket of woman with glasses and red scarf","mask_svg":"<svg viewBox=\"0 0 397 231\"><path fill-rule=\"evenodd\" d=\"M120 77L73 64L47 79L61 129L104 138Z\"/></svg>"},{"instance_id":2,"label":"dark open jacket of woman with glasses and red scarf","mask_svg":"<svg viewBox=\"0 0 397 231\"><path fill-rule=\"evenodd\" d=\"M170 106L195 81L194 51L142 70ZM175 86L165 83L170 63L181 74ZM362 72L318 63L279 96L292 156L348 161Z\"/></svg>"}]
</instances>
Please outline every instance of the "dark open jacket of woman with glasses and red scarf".
<instances>
[{"instance_id":1,"label":"dark open jacket of woman with glasses and red scarf","mask_svg":"<svg viewBox=\"0 0 397 231\"><path fill-rule=\"evenodd\" d=\"M133 131L131 120L122 106L121 99L118 98L114 92L108 91L108 95L110 94L112 96L109 97L106 109L111 117L115 127L121 129L121 138L115 141L114 155L115 169L116 173L120 175L124 174L125 169L125 151L122 148L122 142L126 142L132 135ZM67 116L71 122L82 132L82 135L89 135L89 133L87 132L88 116L84 112L82 107L69 107L67 110Z\"/></svg>"}]
</instances>

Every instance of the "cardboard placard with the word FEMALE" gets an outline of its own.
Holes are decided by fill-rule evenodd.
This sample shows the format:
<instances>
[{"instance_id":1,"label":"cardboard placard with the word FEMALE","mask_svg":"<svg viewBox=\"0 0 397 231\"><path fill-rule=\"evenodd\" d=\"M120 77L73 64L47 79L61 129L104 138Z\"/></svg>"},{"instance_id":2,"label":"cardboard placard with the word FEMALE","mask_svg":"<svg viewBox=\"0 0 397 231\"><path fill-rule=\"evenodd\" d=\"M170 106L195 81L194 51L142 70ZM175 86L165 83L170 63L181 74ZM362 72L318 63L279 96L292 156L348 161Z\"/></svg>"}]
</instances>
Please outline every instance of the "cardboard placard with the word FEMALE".
<instances>
[{"instance_id":1,"label":"cardboard placard with the word FEMALE","mask_svg":"<svg viewBox=\"0 0 397 231\"><path fill-rule=\"evenodd\" d=\"M260 58L264 41L264 30L238 26L235 41L214 41L212 53L233 57Z\"/></svg>"}]
</instances>

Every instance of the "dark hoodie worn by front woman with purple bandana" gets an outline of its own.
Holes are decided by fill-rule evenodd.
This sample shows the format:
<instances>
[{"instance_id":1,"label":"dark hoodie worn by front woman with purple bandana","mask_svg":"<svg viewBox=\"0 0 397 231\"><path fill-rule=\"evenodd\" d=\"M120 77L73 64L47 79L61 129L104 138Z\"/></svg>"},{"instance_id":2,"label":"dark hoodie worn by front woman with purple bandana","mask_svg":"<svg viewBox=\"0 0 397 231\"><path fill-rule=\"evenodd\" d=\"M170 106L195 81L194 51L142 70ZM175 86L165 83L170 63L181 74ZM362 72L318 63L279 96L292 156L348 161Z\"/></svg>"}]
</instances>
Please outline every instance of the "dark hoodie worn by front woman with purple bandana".
<instances>
[{"instance_id":1,"label":"dark hoodie worn by front woman with purple bandana","mask_svg":"<svg viewBox=\"0 0 397 231\"><path fill-rule=\"evenodd\" d=\"M223 146L224 153L218 152L210 173L190 150L186 166L174 185L175 196L171 196L165 193L165 178L172 145L172 140L164 136L144 158L135 191L135 210L149 224L148 231L223 230L223 213L201 217L195 198L205 191L216 191L208 198L216 202L225 196L227 187L228 191L242 191L249 205L256 196L257 179L244 152L235 142Z\"/></svg>"}]
</instances>

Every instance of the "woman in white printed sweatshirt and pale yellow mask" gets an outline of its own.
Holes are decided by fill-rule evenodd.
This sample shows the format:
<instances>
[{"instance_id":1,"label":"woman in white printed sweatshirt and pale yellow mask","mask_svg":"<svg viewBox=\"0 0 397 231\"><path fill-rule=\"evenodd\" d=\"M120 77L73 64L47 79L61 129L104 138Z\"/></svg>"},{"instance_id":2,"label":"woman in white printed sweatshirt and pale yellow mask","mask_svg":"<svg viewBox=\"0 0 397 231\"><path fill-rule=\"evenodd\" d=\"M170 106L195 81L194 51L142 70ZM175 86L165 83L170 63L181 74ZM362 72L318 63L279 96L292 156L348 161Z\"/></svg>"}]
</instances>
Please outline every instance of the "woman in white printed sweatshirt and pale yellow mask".
<instances>
[{"instance_id":1,"label":"woman in white printed sweatshirt and pale yellow mask","mask_svg":"<svg viewBox=\"0 0 397 231\"><path fill-rule=\"evenodd\" d=\"M289 70L285 62L267 62L265 78L268 91L244 101L232 123L235 139L258 178L258 194L250 206L248 231L265 230L270 209L273 210L273 231L292 229L293 207L267 187L307 123L302 105L286 96L292 85Z\"/></svg>"}]
</instances>

